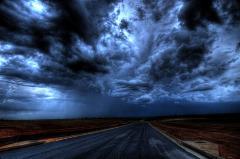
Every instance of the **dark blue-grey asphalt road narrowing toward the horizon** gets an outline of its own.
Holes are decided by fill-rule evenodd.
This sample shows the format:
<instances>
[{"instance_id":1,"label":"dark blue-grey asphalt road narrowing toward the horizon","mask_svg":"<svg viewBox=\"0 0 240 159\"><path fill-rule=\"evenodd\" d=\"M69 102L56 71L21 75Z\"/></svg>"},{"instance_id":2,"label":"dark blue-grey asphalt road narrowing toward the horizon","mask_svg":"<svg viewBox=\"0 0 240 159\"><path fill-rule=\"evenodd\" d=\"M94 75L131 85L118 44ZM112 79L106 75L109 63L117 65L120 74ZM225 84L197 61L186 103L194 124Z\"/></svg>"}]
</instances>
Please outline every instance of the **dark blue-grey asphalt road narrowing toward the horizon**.
<instances>
[{"instance_id":1,"label":"dark blue-grey asphalt road narrowing toward the horizon","mask_svg":"<svg viewBox=\"0 0 240 159\"><path fill-rule=\"evenodd\" d=\"M148 123L0 153L0 159L195 159Z\"/></svg>"}]
</instances>

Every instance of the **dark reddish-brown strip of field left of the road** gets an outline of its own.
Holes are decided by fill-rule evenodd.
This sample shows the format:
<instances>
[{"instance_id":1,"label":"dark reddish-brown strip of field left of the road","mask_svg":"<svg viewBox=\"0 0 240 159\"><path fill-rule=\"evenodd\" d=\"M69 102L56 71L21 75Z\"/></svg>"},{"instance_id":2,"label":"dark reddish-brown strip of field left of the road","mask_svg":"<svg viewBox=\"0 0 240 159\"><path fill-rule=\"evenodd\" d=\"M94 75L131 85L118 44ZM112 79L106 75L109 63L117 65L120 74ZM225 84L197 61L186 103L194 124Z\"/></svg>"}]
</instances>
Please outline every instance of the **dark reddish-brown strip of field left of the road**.
<instances>
[{"instance_id":1,"label":"dark reddish-brown strip of field left of the road","mask_svg":"<svg viewBox=\"0 0 240 159\"><path fill-rule=\"evenodd\" d=\"M128 123L123 119L0 121L0 146L81 134Z\"/></svg>"}]
</instances>

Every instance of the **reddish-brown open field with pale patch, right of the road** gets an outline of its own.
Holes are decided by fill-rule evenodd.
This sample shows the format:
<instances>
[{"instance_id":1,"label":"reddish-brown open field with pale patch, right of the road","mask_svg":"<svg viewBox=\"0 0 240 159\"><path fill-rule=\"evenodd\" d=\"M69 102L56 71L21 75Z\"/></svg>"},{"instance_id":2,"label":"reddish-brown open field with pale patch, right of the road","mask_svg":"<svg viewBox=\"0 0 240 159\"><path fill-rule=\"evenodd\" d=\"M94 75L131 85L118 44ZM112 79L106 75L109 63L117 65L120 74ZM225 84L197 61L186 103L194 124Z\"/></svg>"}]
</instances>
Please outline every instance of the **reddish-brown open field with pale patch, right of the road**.
<instances>
[{"instance_id":1,"label":"reddish-brown open field with pale patch, right of the road","mask_svg":"<svg viewBox=\"0 0 240 159\"><path fill-rule=\"evenodd\" d=\"M239 115L162 118L151 123L180 142L207 153L240 159Z\"/></svg>"}]
</instances>

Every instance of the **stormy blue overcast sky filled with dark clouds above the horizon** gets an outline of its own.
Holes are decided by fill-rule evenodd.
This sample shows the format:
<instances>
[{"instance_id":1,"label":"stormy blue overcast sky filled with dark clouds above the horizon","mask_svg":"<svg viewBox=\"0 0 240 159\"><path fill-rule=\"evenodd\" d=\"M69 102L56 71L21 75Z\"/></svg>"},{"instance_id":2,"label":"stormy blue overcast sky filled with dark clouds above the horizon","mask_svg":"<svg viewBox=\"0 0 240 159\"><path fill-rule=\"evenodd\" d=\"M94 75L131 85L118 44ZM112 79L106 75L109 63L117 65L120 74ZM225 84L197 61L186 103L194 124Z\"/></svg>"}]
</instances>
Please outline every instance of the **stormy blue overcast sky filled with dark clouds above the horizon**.
<instances>
[{"instance_id":1,"label":"stormy blue overcast sky filled with dark clouds above the horizon","mask_svg":"<svg viewBox=\"0 0 240 159\"><path fill-rule=\"evenodd\" d=\"M239 0L0 2L0 118L234 112L209 103L239 101Z\"/></svg>"}]
</instances>

